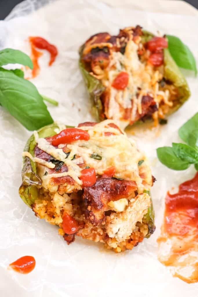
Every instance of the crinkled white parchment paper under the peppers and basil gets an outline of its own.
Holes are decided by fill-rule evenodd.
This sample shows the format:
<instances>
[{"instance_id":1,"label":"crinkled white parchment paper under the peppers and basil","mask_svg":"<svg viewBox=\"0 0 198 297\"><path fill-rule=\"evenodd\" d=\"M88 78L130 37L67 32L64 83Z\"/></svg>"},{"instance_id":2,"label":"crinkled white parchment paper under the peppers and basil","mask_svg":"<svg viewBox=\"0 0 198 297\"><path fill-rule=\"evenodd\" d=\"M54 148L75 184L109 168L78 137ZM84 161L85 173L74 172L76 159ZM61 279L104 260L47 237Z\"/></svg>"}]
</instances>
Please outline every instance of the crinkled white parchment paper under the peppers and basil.
<instances>
[{"instance_id":1,"label":"crinkled white parchment paper under the peppers and basil","mask_svg":"<svg viewBox=\"0 0 198 297\"><path fill-rule=\"evenodd\" d=\"M49 5L40 8L42 3ZM168 3L169 1L167 1ZM179 5L179 1L178 1ZM34 8L39 8L36 12ZM20 17L19 17L20 16ZM25 1L0 22L0 48L11 47L30 54L28 36L42 36L58 47L52 67L44 53L40 75L32 80L41 94L59 101L48 106L54 120L69 125L91 120L89 101L78 69L78 48L92 34L140 24L156 33L172 34L188 44L198 60L195 16L135 11L127 6L113 8L96 1ZM157 260L156 239L163 220L164 198L168 189L194 176L191 166L176 172L165 168L156 158L156 148L179 141L178 128L198 111L197 79L188 76L191 98L168 124L134 137L150 158L157 178L152 189L156 212L156 232L132 251L120 254L105 251L100 244L77 238L67 246L58 228L37 219L18 195L21 153L30 132L0 108L0 292L2 297L77 297L135 296L175 297L198 295L198 284L173 278ZM144 135L144 138L143 138ZM17 274L7 266L18 257L32 255L36 268L28 275Z\"/></svg>"}]
</instances>

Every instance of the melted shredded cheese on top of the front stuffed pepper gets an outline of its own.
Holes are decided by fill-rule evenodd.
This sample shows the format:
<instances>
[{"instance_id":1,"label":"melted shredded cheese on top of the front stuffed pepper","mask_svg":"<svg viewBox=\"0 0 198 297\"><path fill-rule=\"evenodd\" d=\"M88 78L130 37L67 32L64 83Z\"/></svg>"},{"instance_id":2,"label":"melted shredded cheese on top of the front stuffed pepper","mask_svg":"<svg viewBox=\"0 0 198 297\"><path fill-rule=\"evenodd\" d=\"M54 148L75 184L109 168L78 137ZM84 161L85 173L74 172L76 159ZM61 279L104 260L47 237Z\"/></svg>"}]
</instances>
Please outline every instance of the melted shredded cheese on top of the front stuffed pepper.
<instances>
[{"instance_id":1,"label":"melted shredded cheese on top of the front stuffed pepper","mask_svg":"<svg viewBox=\"0 0 198 297\"><path fill-rule=\"evenodd\" d=\"M135 181L139 193L142 193L145 189L149 190L152 185L152 175L148 161L144 154L137 150L135 142L129 140L123 131L108 126L108 124L111 123L114 122L112 120L106 120L95 126L80 127L80 129L86 130L89 133L90 139L88 141L77 140L67 144L66 148L70 151L69 156L64 153L61 145L59 145L59 148L56 148L45 138L39 138L38 133L34 132L34 137L39 149L50 154L53 158L64 162L68 167L67 172L49 172L47 176L42 175L41 178L43 180L45 179L45 185L47 182L50 182L50 178L52 177L70 176L81 186L82 181L80 180L80 176L82 168L80 168L78 164L84 164L83 168L85 168L85 166L94 168L96 175L99 176L102 176L107 168L114 166L116 168L114 177ZM113 133L113 135L107 136L105 135L106 132ZM54 164L51 162L46 162L39 158L35 159L29 155L27 156L33 159L34 162L38 162L48 168L54 168ZM73 159L74 156L77 156L77 158ZM96 158L94 156L96 156ZM144 160L144 180L140 177L139 173L138 162L140 160Z\"/></svg>"}]
</instances>

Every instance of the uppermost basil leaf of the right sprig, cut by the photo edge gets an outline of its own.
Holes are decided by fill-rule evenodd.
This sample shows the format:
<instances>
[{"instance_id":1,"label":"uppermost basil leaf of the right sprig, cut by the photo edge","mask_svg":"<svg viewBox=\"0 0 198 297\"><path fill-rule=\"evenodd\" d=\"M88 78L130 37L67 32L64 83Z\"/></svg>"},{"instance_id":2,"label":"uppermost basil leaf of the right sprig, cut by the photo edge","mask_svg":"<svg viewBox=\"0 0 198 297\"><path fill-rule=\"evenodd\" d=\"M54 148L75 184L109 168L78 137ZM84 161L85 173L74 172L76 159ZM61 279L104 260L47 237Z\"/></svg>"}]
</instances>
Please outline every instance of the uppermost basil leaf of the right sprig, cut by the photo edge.
<instances>
[{"instance_id":1,"label":"uppermost basil leaf of the right sprig, cut by the photo edge","mask_svg":"<svg viewBox=\"0 0 198 297\"><path fill-rule=\"evenodd\" d=\"M196 129L198 129L198 113L183 124L183 126L179 129L179 136L184 142L190 145L190 134Z\"/></svg>"}]
</instances>

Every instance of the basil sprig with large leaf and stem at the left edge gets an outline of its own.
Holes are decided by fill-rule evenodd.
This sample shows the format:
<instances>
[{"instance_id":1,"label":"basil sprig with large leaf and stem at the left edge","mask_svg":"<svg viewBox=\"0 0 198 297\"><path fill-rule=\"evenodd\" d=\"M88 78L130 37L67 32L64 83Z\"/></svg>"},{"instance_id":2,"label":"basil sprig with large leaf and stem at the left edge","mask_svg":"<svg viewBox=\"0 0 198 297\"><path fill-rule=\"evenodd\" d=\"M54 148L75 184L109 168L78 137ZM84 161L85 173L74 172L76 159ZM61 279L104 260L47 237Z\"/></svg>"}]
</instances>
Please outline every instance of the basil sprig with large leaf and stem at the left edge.
<instances>
[{"instance_id":1,"label":"basil sprig with large leaf and stem at the left edge","mask_svg":"<svg viewBox=\"0 0 198 297\"><path fill-rule=\"evenodd\" d=\"M42 97L34 84L24 79L21 69L7 70L2 67L16 63L33 69L30 57L20 50L6 48L0 51L0 105L28 130L52 124L53 119L43 100L54 105L57 102Z\"/></svg>"}]
</instances>

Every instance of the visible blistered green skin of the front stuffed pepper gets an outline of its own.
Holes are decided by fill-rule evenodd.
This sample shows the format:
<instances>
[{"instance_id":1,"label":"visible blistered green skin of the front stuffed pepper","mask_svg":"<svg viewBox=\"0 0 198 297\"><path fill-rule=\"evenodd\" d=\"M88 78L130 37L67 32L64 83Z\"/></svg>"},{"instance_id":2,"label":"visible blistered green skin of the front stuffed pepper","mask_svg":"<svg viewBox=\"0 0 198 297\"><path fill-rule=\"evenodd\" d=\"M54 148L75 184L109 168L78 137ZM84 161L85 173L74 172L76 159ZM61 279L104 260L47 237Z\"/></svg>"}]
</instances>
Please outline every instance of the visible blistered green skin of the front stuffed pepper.
<instances>
[{"instance_id":1,"label":"visible blistered green skin of the front stuffed pepper","mask_svg":"<svg viewBox=\"0 0 198 297\"><path fill-rule=\"evenodd\" d=\"M71 127L67 126L66 127ZM56 123L47 125L38 130L38 134L40 137L50 137L56 134L54 129L57 129L58 125ZM31 135L28 139L24 151L28 151L34 157L34 148L36 146L36 142L34 139L34 135ZM26 203L30 208L34 204L35 200L38 198L38 189L37 186L41 185L41 178L37 175L36 163L30 160L28 157L23 157L23 166L22 166L22 184L19 188L20 198ZM150 197L151 192L145 191ZM148 208L147 214L144 215L142 221L148 225L148 234L145 236L149 238L151 234L155 231L155 223L154 223L154 209L153 203L151 199L151 206Z\"/></svg>"}]
</instances>

